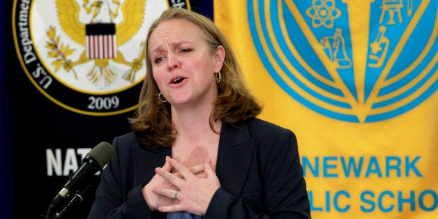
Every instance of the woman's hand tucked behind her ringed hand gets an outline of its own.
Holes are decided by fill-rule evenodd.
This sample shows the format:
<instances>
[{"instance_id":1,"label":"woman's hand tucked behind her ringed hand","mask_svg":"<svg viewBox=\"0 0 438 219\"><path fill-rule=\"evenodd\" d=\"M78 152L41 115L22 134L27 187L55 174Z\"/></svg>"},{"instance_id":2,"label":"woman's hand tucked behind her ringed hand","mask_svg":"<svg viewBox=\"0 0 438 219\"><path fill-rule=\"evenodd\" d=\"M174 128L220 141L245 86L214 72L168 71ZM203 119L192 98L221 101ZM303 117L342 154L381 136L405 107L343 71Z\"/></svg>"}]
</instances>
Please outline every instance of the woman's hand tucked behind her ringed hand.
<instances>
[{"instance_id":1,"label":"woman's hand tucked behind her ringed hand","mask_svg":"<svg viewBox=\"0 0 438 219\"><path fill-rule=\"evenodd\" d=\"M173 168L172 165L169 163L169 159L170 159L169 156L167 156L166 163L162 167L167 172L171 172L172 168ZM189 169L190 169L190 172L192 172L195 175L200 174L204 171L202 164L194 166L194 167L190 167ZM182 176L181 176L181 174L179 174L179 172L176 172L174 174L175 174L175 176L182 178ZM142 188L144 200L146 200L146 203L148 204L149 208L152 211L157 211L158 206L168 206L168 205L172 205L172 204L177 204L177 202L179 202L178 199L173 199L173 198L169 198L169 197L165 197L163 195L157 195L156 193L153 193L152 188L157 188L157 187L178 190L178 188L173 186L172 183L169 183L169 181L164 179L163 176L155 174L155 176L152 177L151 181L149 181L149 183L147 183L146 186L144 186Z\"/></svg>"}]
</instances>

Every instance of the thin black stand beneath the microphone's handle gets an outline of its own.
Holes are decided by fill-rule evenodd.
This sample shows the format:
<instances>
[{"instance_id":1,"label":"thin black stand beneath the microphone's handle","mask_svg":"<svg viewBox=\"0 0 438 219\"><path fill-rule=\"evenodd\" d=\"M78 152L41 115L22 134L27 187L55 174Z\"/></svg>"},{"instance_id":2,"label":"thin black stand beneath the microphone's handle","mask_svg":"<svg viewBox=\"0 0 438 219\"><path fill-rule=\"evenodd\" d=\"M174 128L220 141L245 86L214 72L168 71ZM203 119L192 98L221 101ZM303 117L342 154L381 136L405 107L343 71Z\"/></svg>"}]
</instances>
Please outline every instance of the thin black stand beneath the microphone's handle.
<instances>
[{"instance_id":1,"label":"thin black stand beneath the microphone's handle","mask_svg":"<svg viewBox=\"0 0 438 219\"><path fill-rule=\"evenodd\" d=\"M49 209L47 209L47 213L45 219L58 219L66 216L68 210L70 210L75 204L80 203L84 200L84 195L88 190L90 190L91 185L86 186L83 190L80 190L75 193L75 195L70 199L70 202L62 209L60 213L56 213L56 205L61 202L61 195L56 195L54 201L50 204Z\"/></svg>"}]
</instances>

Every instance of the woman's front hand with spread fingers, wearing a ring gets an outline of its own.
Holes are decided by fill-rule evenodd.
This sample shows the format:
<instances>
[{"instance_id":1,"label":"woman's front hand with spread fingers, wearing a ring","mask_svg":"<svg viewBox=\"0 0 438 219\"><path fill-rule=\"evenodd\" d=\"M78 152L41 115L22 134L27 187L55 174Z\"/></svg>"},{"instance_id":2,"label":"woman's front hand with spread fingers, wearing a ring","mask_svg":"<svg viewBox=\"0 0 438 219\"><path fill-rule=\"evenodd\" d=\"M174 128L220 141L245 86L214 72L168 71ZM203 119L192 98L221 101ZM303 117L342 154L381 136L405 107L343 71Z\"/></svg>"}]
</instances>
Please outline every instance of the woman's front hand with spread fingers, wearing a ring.
<instances>
[{"instance_id":1,"label":"woman's front hand with spread fingers, wearing a ring","mask_svg":"<svg viewBox=\"0 0 438 219\"><path fill-rule=\"evenodd\" d=\"M187 167L174 159L170 159L169 162L174 167L174 170L181 174L183 179L160 167L156 168L156 173L163 176L163 178L176 186L176 188L179 188L179 190L153 188L152 192L157 195L176 198L179 202L168 206L159 206L158 211L187 211L203 216L209 207L214 193L220 188L218 176L213 172L211 159L207 159L204 162L204 177L195 176Z\"/></svg>"}]
</instances>

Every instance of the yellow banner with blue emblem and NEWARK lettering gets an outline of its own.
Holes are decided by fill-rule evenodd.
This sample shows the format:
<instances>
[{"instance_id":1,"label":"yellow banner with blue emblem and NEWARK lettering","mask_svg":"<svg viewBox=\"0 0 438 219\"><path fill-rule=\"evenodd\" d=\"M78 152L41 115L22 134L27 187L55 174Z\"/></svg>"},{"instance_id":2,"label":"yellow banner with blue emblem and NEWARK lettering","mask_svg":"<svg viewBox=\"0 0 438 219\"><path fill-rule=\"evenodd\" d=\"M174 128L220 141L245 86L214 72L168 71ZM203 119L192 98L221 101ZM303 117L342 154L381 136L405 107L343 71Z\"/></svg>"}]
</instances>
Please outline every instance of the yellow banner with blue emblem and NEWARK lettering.
<instances>
[{"instance_id":1,"label":"yellow banner with blue emblem and NEWARK lettering","mask_svg":"<svg viewBox=\"0 0 438 219\"><path fill-rule=\"evenodd\" d=\"M214 0L312 218L438 218L437 1Z\"/></svg>"}]
</instances>

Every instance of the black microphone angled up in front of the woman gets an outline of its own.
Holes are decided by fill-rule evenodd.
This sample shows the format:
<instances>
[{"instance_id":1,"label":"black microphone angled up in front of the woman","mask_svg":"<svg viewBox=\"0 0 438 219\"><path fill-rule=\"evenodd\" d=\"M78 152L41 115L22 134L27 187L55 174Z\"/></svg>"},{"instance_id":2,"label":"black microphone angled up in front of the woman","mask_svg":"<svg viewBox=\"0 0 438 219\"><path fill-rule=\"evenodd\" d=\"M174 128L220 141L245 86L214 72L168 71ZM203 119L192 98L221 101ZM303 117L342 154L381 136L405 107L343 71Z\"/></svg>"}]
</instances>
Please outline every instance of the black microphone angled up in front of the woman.
<instances>
[{"instance_id":1,"label":"black microphone angled up in front of the woman","mask_svg":"<svg viewBox=\"0 0 438 219\"><path fill-rule=\"evenodd\" d=\"M100 142L91 149L89 153L86 153L85 158L82 159L82 166L70 176L70 180L63 186L58 195L54 197L50 204L49 211L47 211L47 218L52 218L49 217L49 214L53 214L53 211L56 211L59 202L66 199L70 193L75 194L77 191L84 188L91 177L100 169L103 169L113 156L114 149L112 148L112 145L107 142Z\"/></svg>"}]
</instances>

